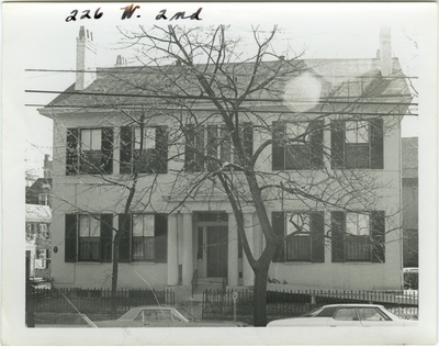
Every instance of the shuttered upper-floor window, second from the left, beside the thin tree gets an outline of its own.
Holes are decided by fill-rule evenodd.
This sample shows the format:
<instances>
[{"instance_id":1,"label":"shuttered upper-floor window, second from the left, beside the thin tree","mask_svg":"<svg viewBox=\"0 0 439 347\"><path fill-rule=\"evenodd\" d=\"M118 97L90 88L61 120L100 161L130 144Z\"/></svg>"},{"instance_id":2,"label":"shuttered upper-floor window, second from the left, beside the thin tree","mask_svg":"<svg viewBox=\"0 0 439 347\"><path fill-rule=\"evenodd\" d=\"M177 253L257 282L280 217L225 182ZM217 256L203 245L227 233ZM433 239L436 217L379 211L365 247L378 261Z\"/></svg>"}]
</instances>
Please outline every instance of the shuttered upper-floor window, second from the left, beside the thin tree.
<instances>
[{"instance_id":1,"label":"shuttered upper-floor window, second from the left, beside the thin tree","mask_svg":"<svg viewBox=\"0 0 439 347\"><path fill-rule=\"evenodd\" d=\"M123 126L121 128L121 174L166 174L168 127Z\"/></svg>"}]
</instances>

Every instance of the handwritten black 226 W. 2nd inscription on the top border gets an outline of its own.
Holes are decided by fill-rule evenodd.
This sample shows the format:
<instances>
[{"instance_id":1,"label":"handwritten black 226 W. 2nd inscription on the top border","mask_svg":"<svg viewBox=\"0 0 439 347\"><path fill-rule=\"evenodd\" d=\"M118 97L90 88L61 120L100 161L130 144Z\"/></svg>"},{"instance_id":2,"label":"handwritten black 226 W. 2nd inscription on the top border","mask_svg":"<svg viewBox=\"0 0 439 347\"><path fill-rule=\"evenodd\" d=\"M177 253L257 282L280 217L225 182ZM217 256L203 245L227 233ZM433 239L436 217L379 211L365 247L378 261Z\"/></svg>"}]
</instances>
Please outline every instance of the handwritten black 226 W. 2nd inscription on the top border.
<instances>
[{"instance_id":1,"label":"handwritten black 226 W. 2nd inscription on the top border","mask_svg":"<svg viewBox=\"0 0 439 347\"><path fill-rule=\"evenodd\" d=\"M122 13L121 20L131 19L133 16L134 12L136 10L138 10L138 9L140 9L140 7L139 5L134 5L134 4L130 4L127 7L122 8L121 10L123 10L124 12ZM196 12L194 12L194 13L192 13L190 15L185 15L184 11L177 12L176 14L173 14L172 16L169 18L169 21L179 20L179 19L201 21L202 19L200 18L200 13L201 13L202 10L203 10L203 8L200 8L200 9L196 10ZM90 12L91 12L90 10L85 10L85 11L82 11L82 14L79 16L78 15L79 11L78 10L74 10L74 11L70 12L70 15L68 15L66 18L66 22L76 21L77 16L79 16L79 20L85 20L85 19L91 20L92 18L91 18ZM168 16L166 15L166 12L167 12L166 9L159 11L159 13L156 15L156 21L167 20ZM103 12L101 12L101 8L99 8L98 10L94 11L93 19L99 20L102 16L103 16ZM137 14L136 18L140 18L140 15Z\"/></svg>"}]
</instances>

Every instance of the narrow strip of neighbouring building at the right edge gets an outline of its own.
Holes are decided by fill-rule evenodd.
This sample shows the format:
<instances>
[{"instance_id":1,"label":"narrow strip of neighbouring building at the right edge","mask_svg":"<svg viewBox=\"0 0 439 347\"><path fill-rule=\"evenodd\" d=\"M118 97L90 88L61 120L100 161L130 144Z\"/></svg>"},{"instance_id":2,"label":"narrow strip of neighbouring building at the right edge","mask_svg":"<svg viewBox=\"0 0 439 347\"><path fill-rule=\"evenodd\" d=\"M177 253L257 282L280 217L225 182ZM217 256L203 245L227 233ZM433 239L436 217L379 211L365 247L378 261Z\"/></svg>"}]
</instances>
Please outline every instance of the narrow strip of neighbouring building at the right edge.
<instances>
[{"instance_id":1,"label":"narrow strip of neighbouring building at the right edge","mask_svg":"<svg viewBox=\"0 0 439 347\"><path fill-rule=\"evenodd\" d=\"M403 137L404 267L418 267L418 138Z\"/></svg>"}]
</instances>

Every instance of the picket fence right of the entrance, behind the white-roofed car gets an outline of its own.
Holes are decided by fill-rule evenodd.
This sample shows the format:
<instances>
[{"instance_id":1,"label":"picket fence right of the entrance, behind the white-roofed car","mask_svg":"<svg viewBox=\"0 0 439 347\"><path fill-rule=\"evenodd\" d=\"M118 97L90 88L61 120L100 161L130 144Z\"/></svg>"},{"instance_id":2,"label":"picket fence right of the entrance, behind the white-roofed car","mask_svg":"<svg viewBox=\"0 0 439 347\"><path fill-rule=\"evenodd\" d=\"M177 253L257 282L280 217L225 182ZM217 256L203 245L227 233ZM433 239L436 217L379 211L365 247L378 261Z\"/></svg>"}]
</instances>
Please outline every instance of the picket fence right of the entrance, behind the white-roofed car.
<instances>
[{"instance_id":1,"label":"picket fence right of the entrance, behind the white-roofed car","mask_svg":"<svg viewBox=\"0 0 439 347\"><path fill-rule=\"evenodd\" d=\"M203 318L233 320L234 291L206 290L203 293ZM236 316L238 321L251 324L254 312L254 292L237 291ZM403 318L417 320L417 294L385 293L370 291L268 291L268 321L295 317L313 309L335 303L375 303L387 307Z\"/></svg>"}]
</instances>

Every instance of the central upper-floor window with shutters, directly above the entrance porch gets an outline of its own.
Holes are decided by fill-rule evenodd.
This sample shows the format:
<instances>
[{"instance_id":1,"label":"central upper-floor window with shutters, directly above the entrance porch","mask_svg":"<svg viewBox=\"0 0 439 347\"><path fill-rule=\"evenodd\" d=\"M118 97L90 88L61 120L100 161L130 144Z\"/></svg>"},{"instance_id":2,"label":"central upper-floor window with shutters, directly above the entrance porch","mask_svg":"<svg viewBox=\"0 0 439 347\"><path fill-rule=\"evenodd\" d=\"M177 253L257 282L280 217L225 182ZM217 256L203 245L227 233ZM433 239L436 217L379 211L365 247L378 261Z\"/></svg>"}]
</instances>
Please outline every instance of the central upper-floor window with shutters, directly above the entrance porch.
<instances>
[{"instance_id":1,"label":"central upper-floor window with shutters, directly above the entrance porch","mask_svg":"<svg viewBox=\"0 0 439 347\"><path fill-rule=\"evenodd\" d=\"M252 127L246 122L238 126L240 138L247 156L252 156ZM185 127L184 168L188 172L201 172L204 169L215 170L223 163L241 166L238 153L232 142L232 133L224 124L206 126L190 124Z\"/></svg>"}]
</instances>

